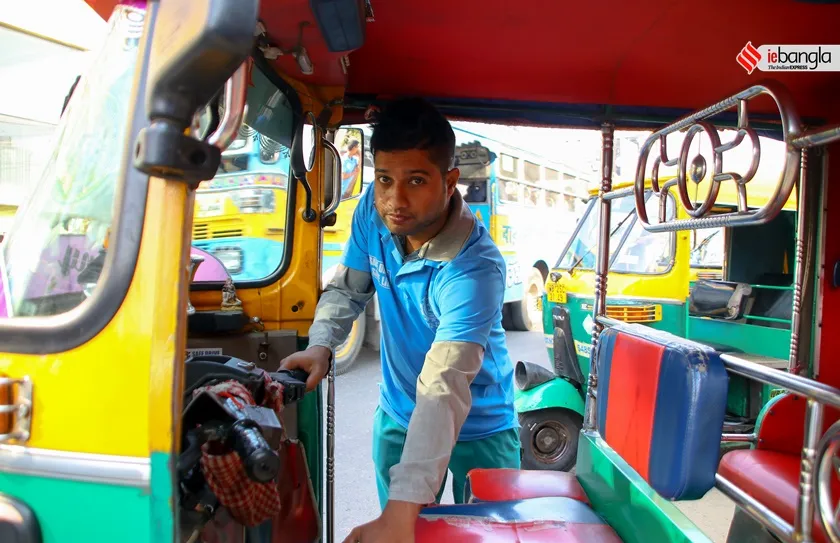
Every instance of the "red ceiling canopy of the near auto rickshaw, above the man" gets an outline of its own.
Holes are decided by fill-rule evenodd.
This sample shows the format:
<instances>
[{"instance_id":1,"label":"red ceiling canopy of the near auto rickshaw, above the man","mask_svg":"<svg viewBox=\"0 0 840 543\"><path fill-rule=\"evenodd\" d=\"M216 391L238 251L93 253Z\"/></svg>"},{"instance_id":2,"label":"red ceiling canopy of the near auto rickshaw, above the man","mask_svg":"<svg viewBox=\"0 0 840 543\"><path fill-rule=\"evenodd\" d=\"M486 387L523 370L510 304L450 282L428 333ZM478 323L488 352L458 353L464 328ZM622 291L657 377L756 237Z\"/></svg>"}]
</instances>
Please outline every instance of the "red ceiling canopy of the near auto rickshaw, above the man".
<instances>
[{"instance_id":1,"label":"red ceiling canopy of the near auto rickshaw, above the man","mask_svg":"<svg viewBox=\"0 0 840 543\"><path fill-rule=\"evenodd\" d=\"M117 3L86 1L104 18ZM371 103L412 95L455 118L651 129L766 76L790 89L806 120L840 114L840 73L748 74L736 61L747 42L836 42L836 1L370 0L370 7L364 44L349 54L345 73L346 53L328 50L309 0L261 1L269 40L290 48L302 36L314 65L304 75L281 55L278 70L346 87L346 122L362 122ZM755 106L777 118L771 100Z\"/></svg>"}]
</instances>

